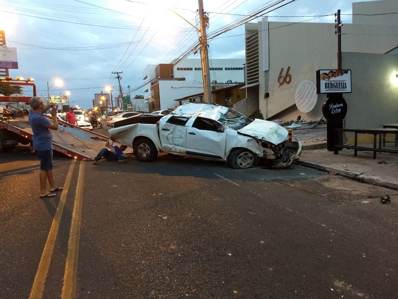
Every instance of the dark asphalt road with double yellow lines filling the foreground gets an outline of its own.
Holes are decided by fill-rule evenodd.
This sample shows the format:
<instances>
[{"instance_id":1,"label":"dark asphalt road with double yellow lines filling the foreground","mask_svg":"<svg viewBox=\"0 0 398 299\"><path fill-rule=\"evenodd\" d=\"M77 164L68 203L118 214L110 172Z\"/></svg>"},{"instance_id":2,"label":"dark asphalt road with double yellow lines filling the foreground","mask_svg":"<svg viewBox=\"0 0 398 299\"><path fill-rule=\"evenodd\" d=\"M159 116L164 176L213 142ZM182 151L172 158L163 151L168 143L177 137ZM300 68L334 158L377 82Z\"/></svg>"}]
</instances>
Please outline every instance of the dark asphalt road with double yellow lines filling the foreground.
<instances>
[{"instance_id":1,"label":"dark asphalt road with double yellow lines filling the foreground","mask_svg":"<svg viewBox=\"0 0 398 299\"><path fill-rule=\"evenodd\" d=\"M25 149L0 155L0 298L398 294L396 191L298 165L56 154L65 189L40 199Z\"/></svg>"}]
</instances>

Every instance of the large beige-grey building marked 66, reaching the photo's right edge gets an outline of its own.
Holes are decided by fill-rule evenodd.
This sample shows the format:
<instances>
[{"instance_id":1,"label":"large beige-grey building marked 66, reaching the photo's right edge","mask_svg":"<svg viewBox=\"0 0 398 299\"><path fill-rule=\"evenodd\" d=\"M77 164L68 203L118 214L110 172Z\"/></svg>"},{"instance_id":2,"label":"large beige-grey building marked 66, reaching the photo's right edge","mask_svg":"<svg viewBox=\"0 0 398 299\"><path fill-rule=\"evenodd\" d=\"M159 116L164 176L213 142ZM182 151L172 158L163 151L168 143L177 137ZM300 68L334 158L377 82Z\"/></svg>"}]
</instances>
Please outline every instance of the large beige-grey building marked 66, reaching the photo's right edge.
<instances>
[{"instance_id":1,"label":"large beige-grey building marked 66, reaching the photo's right edge","mask_svg":"<svg viewBox=\"0 0 398 299\"><path fill-rule=\"evenodd\" d=\"M352 24L341 16L342 69L351 69L352 77L352 93L343 94L348 105L345 126L377 128L397 122L398 18L389 13L398 13L398 1L355 2L352 12ZM303 81L316 84L316 70L337 69L334 26L268 22L266 17L245 24L246 99L234 107L246 114L259 108L265 119L290 121L300 115L306 121L319 120L326 94L315 94L314 108L303 113L296 93ZM283 80L288 69L290 78Z\"/></svg>"}]
</instances>

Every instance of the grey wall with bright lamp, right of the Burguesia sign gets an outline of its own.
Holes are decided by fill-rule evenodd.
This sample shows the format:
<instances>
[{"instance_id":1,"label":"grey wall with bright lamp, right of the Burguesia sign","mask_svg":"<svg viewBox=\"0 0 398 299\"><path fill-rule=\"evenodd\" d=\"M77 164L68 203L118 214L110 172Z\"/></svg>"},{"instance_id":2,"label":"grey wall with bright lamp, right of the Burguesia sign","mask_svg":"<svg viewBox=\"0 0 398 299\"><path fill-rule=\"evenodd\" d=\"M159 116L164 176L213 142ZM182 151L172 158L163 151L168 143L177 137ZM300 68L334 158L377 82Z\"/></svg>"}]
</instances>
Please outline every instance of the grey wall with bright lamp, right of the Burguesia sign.
<instances>
[{"instance_id":1,"label":"grey wall with bright lamp, right of the Burguesia sign","mask_svg":"<svg viewBox=\"0 0 398 299\"><path fill-rule=\"evenodd\" d=\"M398 55L343 53L342 58L352 82L352 93L343 94L348 106L345 128L398 123Z\"/></svg>"}]
</instances>

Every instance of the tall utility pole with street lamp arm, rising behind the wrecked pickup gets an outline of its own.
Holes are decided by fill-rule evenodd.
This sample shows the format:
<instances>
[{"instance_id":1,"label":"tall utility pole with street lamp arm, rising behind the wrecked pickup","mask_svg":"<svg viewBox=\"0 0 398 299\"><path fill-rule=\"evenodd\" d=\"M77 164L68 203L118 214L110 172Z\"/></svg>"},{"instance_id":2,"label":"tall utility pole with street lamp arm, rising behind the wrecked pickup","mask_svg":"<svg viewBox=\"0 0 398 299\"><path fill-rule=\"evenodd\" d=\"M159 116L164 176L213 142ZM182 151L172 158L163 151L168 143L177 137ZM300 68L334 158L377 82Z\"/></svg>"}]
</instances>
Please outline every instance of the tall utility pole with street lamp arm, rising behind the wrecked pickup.
<instances>
[{"instance_id":1,"label":"tall utility pole with street lamp arm, rising behind the wrecked pickup","mask_svg":"<svg viewBox=\"0 0 398 299\"><path fill-rule=\"evenodd\" d=\"M199 42L201 43L201 56L202 56L202 74L203 74L203 92L205 95L205 101L211 104L211 86L210 86L210 70L209 70L209 44L207 43L206 23L209 18L205 16L203 10L203 0L199 2L199 17L200 17L200 29L201 37Z\"/></svg>"}]
</instances>

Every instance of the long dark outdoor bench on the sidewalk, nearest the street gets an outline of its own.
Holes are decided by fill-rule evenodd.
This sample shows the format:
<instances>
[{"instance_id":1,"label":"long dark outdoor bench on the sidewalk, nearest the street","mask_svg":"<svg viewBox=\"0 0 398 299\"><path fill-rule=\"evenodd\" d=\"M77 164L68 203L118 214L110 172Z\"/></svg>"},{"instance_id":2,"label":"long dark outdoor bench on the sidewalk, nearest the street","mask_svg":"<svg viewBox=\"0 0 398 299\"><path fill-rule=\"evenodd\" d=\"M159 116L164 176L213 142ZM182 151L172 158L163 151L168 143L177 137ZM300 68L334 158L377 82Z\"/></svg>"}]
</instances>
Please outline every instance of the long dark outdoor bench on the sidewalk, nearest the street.
<instances>
[{"instance_id":1,"label":"long dark outdoor bench on the sidewalk, nearest the street","mask_svg":"<svg viewBox=\"0 0 398 299\"><path fill-rule=\"evenodd\" d=\"M354 145L343 144L343 132L354 133ZM373 147L361 145L358 146L358 134L371 134L373 135ZM339 153L339 149L348 148L354 150L354 156L357 155L357 151L373 151L373 159L376 159L376 153L398 153L398 148L382 148L382 144L385 144L386 134L395 134L395 140L398 138L397 129L335 129L334 130L334 154ZM378 138L378 140L377 140ZM377 146L378 144L378 146ZM397 143L395 143L397 145Z\"/></svg>"}]
</instances>

